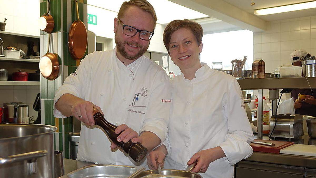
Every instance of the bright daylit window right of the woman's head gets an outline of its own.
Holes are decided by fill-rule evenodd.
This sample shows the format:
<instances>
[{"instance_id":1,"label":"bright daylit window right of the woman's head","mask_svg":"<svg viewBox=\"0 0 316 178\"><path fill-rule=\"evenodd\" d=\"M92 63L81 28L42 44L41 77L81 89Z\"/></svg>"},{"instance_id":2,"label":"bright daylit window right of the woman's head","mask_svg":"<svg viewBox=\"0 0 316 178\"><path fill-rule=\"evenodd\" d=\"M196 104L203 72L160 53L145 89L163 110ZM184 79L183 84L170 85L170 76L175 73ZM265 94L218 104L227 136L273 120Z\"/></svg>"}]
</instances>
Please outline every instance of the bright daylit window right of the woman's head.
<instances>
[{"instance_id":1,"label":"bright daylit window right of the woman's head","mask_svg":"<svg viewBox=\"0 0 316 178\"><path fill-rule=\"evenodd\" d=\"M200 61L212 68L212 62L222 62L223 70L232 70L232 60L247 56L245 70L252 69L253 32L229 31L203 35L203 50Z\"/></svg>"}]
</instances>

